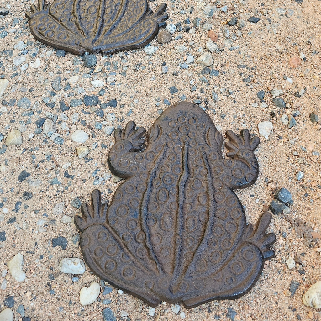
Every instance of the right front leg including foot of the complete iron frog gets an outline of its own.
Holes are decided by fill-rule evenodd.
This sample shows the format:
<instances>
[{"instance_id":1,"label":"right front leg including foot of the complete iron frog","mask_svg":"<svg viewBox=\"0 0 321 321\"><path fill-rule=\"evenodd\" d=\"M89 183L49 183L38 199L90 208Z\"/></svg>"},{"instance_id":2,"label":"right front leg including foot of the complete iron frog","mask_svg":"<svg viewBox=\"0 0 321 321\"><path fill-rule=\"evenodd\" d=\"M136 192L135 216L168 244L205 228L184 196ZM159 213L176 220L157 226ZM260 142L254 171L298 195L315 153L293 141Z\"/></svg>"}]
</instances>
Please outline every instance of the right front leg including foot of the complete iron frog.
<instances>
[{"instance_id":1,"label":"right front leg including foot of the complete iron frog","mask_svg":"<svg viewBox=\"0 0 321 321\"><path fill-rule=\"evenodd\" d=\"M247 129L239 135L231 130L226 131L230 142L225 143L229 150L226 156L229 159L217 160L212 164L214 178L221 179L223 184L231 189L245 188L252 185L258 176L258 163L254 151L260 139L250 139Z\"/></svg>"}]
</instances>

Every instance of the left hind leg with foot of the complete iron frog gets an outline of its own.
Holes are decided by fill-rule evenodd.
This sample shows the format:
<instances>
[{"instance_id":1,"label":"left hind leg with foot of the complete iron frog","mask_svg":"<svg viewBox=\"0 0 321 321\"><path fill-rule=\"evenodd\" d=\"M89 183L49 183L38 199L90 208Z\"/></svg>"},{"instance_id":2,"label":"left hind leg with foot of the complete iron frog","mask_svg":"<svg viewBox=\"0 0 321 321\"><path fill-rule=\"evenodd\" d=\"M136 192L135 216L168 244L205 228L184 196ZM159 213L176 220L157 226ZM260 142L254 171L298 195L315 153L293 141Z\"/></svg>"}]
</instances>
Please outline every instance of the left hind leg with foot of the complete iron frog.
<instances>
[{"instance_id":1,"label":"left hind leg with foot of the complete iron frog","mask_svg":"<svg viewBox=\"0 0 321 321\"><path fill-rule=\"evenodd\" d=\"M82 217L75 216L74 222L82 232L80 247L91 271L118 289L156 307L160 299L152 292L152 275L121 245L106 223L107 204L101 204L99 190L92 192L91 205L82 203L81 212Z\"/></svg>"}]
</instances>

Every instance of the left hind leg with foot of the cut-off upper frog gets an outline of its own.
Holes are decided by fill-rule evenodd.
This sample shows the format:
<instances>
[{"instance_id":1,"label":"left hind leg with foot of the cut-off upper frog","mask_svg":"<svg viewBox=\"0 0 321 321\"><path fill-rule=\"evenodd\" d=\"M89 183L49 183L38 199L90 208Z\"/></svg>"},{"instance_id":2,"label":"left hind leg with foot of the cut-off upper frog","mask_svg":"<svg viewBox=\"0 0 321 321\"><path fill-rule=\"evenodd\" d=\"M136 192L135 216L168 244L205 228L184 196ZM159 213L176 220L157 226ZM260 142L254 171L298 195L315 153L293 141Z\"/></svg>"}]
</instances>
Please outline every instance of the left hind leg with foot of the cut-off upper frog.
<instances>
[{"instance_id":1,"label":"left hind leg with foot of the cut-off upper frog","mask_svg":"<svg viewBox=\"0 0 321 321\"><path fill-rule=\"evenodd\" d=\"M25 15L30 20L30 32L35 39L54 48L83 55L85 50L80 46L77 35L67 30L54 20L49 13L50 4L39 0L37 7L30 6L30 11Z\"/></svg>"}]
</instances>

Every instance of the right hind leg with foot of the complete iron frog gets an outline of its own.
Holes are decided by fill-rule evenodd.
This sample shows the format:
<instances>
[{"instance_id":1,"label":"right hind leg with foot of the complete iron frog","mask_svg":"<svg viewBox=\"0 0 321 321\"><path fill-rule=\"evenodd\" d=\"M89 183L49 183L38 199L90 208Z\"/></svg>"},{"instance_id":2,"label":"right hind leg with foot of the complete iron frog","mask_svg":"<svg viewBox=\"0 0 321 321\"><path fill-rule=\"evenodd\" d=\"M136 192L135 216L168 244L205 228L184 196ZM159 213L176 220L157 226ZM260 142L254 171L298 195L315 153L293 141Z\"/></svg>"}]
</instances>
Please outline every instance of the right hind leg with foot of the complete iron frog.
<instances>
[{"instance_id":1,"label":"right hind leg with foot of the complete iron frog","mask_svg":"<svg viewBox=\"0 0 321 321\"><path fill-rule=\"evenodd\" d=\"M271 214L264 213L255 230L247 225L239 247L219 271L205 278L186 280L191 289L183 296L186 308L212 300L237 299L251 290L263 271L264 261L274 256L269 246L275 242L275 235L265 234L270 221ZM215 256L208 258L211 259L215 260Z\"/></svg>"}]
</instances>

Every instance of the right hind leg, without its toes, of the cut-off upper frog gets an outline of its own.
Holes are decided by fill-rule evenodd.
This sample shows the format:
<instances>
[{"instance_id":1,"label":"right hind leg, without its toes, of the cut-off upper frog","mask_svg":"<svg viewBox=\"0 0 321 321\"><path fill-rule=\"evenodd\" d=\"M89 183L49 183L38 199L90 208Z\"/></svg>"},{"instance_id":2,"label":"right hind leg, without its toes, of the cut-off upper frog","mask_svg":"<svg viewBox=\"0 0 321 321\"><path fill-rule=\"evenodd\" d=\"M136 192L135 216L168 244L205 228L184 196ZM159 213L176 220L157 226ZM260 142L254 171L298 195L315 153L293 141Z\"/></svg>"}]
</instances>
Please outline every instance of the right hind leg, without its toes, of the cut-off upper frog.
<instances>
[{"instance_id":1,"label":"right hind leg, without its toes, of the cut-off upper frog","mask_svg":"<svg viewBox=\"0 0 321 321\"><path fill-rule=\"evenodd\" d=\"M109 55L120 50L138 49L147 45L157 35L158 23L151 18L140 22L133 30L122 37L106 37L99 45L103 55Z\"/></svg>"}]
</instances>

